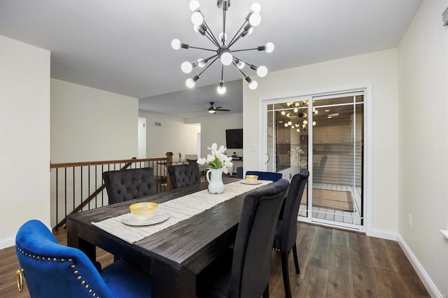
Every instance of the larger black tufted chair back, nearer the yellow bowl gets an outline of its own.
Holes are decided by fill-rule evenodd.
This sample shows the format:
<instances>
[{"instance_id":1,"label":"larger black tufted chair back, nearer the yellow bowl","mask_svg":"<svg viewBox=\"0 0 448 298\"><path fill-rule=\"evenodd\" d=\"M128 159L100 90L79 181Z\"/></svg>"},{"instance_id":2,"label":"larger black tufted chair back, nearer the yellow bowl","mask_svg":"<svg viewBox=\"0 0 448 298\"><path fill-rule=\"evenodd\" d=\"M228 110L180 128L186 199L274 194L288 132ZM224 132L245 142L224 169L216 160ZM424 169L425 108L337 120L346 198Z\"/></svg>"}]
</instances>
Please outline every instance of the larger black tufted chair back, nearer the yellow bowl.
<instances>
[{"instance_id":1,"label":"larger black tufted chair back, nearer the yellow bowl","mask_svg":"<svg viewBox=\"0 0 448 298\"><path fill-rule=\"evenodd\" d=\"M109 204L155 194L153 168L106 171L103 173Z\"/></svg>"}]
</instances>

